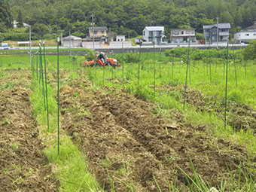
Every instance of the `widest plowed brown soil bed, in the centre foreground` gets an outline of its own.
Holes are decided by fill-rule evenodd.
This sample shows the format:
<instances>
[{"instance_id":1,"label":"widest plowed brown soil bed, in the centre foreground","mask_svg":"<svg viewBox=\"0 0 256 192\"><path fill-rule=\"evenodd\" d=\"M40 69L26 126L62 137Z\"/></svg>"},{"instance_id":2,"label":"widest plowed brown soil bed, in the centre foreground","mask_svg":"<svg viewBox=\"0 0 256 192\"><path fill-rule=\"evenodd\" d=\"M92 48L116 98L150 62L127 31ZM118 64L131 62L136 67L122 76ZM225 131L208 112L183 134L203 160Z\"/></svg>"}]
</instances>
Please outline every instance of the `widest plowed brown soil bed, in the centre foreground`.
<instances>
[{"instance_id":1,"label":"widest plowed brown soil bed, in the centre foreground","mask_svg":"<svg viewBox=\"0 0 256 192\"><path fill-rule=\"evenodd\" d=\"M163 191L168 181L182 191L187 181L181 169L192 175L190 160L212 186L229 177L227 167L238 172L240 161L246 162L241 146L206 135L178 112L169 124L152 113L153 104L132 95L107 87L93 91L81 79L62 87L60 95L63 128L87 154L90 171L107 191L108 172L116 191L131 186L157 191L154 178Z\"/></svg>"}]
</instances>

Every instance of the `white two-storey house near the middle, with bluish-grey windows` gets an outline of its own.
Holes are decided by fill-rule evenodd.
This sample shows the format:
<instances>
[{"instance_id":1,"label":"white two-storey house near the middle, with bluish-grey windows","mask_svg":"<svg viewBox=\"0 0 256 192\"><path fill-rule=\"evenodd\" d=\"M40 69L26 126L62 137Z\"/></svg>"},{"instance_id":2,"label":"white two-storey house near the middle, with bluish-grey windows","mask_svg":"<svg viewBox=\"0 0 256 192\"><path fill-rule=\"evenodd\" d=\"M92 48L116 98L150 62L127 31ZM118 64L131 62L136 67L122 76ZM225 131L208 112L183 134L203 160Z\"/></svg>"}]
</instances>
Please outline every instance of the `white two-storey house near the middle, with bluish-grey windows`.
<instances>
[{"instance_id":1,"label":"white two-storey house near the middle, with bluish-grey windows","mask_svg":"<svg viewBox=\"0 0 256 192\"><path fill-rule=\"evenodd\" d=\"M164 26L146 26L142 32L143 40L147 42L162 42L164 36Z\"/></svg>"}]
</instances>

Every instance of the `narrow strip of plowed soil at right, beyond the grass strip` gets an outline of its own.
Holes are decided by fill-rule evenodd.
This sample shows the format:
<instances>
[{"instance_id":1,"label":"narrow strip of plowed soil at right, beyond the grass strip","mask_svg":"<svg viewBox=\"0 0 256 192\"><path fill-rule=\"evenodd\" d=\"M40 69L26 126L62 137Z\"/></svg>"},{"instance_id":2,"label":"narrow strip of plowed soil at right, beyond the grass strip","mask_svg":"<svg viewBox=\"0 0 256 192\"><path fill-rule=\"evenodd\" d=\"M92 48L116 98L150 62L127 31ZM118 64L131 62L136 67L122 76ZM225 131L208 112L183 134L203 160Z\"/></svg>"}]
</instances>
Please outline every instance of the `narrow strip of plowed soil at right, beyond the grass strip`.
<instances>
[{"instance_id":1,"label":"narrow strip of plowed soil at right, beyond the grass strip","mask_svg":"<svg viewBox=\"0 0 256 192\"><path fill-rule=\"evenodd\" d=\"M181 95L184 95L184 87L169 86L164 85L157 87L160 92L164 93L175 93L179 92ZM181 102L183 102L181 99ZM224 115L224 99L221 101L216 100L212 96L207 96L206 94L200 93L198 90L194 90L191 87L187 88L186 93L186 102L190 105L193 105L194 108L197 108L199 111L207 111L218 116L223 117ZM254 130L256 132L256 110L251 108L248 105L239 105L236 102L228 101L227 102L227 123L235 128L236 130Z\"/></svg>"}]
</instances>

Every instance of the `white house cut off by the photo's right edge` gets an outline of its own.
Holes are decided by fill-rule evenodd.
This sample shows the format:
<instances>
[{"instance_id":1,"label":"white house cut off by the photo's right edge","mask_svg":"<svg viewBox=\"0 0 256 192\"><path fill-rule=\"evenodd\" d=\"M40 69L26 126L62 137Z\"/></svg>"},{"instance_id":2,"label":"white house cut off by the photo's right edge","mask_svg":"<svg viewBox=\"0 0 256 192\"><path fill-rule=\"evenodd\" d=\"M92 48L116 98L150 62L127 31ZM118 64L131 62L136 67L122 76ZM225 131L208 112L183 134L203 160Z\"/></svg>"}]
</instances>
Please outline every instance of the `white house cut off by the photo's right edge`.
<instances>
[{"instance_id":1,"label":"white house cut off by the photo's right edge","mask_svg":"<svg viewBox=\"0 0 256 192\"><path fill-rule=\"evenodd\" d=\"M256 39L256 21L254 21L254 25L242 29L234 35L234 41L239 43L254 39Z\"/></svg>"}]
</instances>

